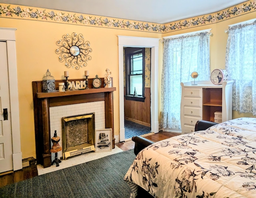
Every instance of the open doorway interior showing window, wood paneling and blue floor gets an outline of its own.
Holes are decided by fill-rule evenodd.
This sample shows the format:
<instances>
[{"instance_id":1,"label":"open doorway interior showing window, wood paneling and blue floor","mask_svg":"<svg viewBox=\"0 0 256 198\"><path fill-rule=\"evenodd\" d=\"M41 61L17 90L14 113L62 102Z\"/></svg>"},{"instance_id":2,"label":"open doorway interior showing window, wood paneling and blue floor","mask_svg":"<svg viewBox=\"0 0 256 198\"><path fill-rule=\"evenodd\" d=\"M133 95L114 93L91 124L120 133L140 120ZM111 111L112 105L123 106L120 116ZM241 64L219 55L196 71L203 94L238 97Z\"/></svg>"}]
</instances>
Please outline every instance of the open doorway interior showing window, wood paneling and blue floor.
<instances>
[{"instance_id":1,"label":"open doorway interior showing window, wood paneling and blue floor","mask_svg":"<svg viewBox=\"0 0 256 198\"><path fill-rule=\"evenodd\" d=\"M150 133L150 48L124 48L125 141Z\"/></svg>"}]
</instances>

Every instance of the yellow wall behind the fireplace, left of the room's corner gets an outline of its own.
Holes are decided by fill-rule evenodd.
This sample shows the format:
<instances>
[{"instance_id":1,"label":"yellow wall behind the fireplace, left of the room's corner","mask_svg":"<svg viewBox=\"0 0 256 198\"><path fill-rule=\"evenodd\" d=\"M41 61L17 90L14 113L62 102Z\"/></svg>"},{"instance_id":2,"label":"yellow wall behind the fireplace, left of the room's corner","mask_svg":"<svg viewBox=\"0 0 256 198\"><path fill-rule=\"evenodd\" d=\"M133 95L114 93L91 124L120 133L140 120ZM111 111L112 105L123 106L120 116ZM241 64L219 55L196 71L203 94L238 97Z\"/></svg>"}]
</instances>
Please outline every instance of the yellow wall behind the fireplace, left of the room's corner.
<instances>
[{"instance_id":1,"label":"yellow wall behind the fireplace, left of the room's corner","mask_svg":"<svg viewBox=\"0 0 256 198\"><path fill-rule=\"evenodd\" d=\"M160 38L161 34L115 30L108 28L76 26L32 20L0 18L0 24L16 30L16 57L18 72L18 95L20 106L20 135L22 158L36 158L32 81L40 81L49 69L56 80L64 79L64 71L69 71L70 79L84 78L84 70L89 70L89 78L104 77L106 68L112 71L114 91L114 134L119 135L118 99L118 37L139 36ZM92 59L85 68L66 68L58 61L56 41L64 34L82 33L90 42ZM121 79L123 80L123 79Z\"/></svg>"}]
</instances>

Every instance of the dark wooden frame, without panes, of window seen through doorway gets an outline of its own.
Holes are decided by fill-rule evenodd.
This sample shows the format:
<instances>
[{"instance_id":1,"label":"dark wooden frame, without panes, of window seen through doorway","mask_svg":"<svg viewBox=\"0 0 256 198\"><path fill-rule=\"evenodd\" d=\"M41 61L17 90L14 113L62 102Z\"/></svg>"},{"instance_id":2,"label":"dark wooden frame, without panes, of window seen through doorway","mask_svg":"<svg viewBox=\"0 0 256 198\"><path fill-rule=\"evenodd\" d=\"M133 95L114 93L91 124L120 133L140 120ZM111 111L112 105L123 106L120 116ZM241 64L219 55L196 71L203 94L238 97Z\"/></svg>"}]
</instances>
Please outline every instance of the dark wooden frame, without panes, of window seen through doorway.
<instances>
[{"instance_id":1,"label":"dark wooden frame, without panes, of window seen through doorway","mask_svg":"<svg viewBox=\"0 0 256 198\"><path fill-rule=\"evenodd\" d=\"M132 101L145 101L145 48L124 48L125 52L125 99ZM130 75L131 75L131 56L142 53L142 95L133 96L130 93ZM140 75L140 74L138 74Z\"/></svg>"}]
</instances>

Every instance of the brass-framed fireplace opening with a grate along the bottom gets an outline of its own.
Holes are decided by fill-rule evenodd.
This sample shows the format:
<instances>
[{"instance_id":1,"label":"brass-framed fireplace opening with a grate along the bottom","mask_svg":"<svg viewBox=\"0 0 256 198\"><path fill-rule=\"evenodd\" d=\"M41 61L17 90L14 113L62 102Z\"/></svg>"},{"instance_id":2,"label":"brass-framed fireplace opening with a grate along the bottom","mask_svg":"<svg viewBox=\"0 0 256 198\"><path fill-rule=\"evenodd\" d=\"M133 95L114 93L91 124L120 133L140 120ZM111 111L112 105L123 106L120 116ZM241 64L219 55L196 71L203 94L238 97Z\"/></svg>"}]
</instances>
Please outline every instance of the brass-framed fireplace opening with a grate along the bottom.
<instances>
[{"instance_id":1,"label":"brass-framed fireplace opening with a grate along the bottom","mask_svg":"<svg viewBox=\"0 0 256 198\"><path fill-rule=\"evenodd\" d=\"M94 113L63 117L61 120L63 159L95 150Z\"/></svg>"}]
</instances>

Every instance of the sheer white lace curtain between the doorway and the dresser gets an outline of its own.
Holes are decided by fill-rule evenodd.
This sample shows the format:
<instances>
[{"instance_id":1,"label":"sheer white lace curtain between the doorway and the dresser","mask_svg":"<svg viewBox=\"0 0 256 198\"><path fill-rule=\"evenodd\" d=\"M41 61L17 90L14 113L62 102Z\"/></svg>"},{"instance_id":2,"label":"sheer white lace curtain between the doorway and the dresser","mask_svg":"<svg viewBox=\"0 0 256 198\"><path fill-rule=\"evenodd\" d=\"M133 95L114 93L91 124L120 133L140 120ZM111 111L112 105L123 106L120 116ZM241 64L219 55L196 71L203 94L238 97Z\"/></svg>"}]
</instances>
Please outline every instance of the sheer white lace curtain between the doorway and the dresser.
<instances>
[{"instance_id":1,"label":"sheer white lace curtain between the doorway and the dresser","mask_svg":"<svg viewBox=\"0 0 256 198\"><path fill-rule=\"evenodd\" d=\"M181 129L180 83L192 80L193 71L199 74L196 80L210 79L209 43L209 32L164 39L160 129Z\"/></svg>"}]
</instances>

